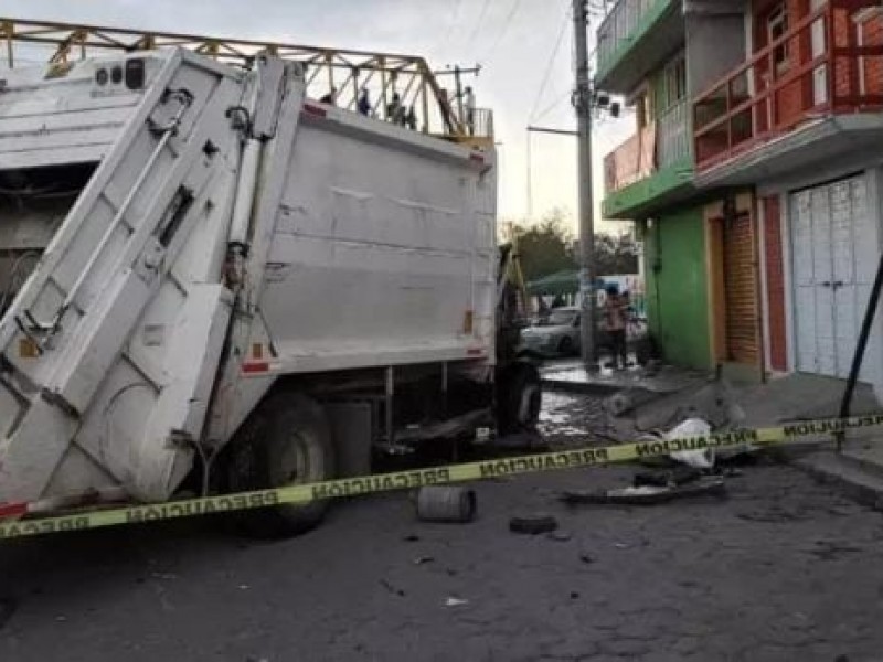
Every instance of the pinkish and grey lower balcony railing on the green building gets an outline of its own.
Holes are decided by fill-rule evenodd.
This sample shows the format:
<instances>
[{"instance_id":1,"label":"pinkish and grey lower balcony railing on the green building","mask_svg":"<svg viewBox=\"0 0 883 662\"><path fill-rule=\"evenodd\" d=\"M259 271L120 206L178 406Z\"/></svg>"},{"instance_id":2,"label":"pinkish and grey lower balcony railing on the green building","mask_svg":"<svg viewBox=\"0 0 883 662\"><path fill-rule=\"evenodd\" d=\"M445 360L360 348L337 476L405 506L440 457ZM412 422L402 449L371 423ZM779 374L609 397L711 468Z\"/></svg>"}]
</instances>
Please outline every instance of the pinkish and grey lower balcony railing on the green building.
<instances>
[{"instance_id":1,"label":"pinkish and grey lower balcony railing on the green building","mask_svg":"<svg viewBox=\"0 0 883 662\"><path fill-rule=\"evenodd\" d=\"M613 193L624 189L689 156L687 103L680 102L605 157L605 190Z\"/></svg>"}]
</instances>

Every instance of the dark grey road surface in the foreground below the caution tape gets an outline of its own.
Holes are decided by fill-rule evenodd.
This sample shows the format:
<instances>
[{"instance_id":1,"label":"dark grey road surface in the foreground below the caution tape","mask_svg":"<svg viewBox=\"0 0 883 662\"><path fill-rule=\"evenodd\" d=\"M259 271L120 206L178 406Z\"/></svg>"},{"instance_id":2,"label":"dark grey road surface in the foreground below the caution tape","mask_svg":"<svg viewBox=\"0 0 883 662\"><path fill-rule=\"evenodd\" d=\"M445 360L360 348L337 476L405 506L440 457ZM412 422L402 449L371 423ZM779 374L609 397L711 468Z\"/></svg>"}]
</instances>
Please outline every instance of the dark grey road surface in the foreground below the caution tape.
<instances>
[{"instance_id":1,"label":"dark grey road surface in the foreground below the caution tape","mask_svg":"<svg viewBox=\"0 0 883 662\"><path fill-rule=\"evenodd\" d=\"M630 474L481 483L468 525L396 493L285 542L177 522L4 543L0 661L883 660L880 513L774 465L727 500L554 499ZM508 531L535 511L564 540Z\"/></svg>"}]
</instances>

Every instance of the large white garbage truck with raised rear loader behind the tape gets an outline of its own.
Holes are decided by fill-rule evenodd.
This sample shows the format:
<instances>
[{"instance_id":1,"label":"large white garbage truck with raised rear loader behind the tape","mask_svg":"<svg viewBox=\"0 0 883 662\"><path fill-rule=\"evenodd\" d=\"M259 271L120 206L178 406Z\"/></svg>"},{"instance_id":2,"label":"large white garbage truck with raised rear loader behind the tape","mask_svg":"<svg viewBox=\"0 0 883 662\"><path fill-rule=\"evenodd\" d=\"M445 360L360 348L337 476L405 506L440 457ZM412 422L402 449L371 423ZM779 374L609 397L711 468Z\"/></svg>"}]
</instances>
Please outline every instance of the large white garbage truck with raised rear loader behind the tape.
<instances>
[{"instance_id":1,"label":"large white garbage truck with raised rear loader behind the tape","mask_svg":"<svg viewBox=\"0 0 883 662\"><path fill-rule=\"evenodd\" d=\"M492 141L305 76L184 49L0 71L1 515L360 474L536 420Z\"/></svg>"}]
</instances>

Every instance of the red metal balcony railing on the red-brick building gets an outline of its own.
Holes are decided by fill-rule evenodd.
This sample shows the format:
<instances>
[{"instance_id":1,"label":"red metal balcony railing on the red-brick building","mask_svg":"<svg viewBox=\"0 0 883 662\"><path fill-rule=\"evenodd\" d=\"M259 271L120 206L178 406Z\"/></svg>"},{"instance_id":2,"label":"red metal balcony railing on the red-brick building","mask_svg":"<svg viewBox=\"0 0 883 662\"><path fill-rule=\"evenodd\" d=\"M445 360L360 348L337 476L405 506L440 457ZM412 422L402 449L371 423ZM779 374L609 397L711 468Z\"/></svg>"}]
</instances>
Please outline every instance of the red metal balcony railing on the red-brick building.
<instances>
[{"instance_id":1,"label":"red metal balcony railing on the red-brick building","mask_svg":"<svg viewBox=\"0 0 883 662\"><path fill-rule=\"evenodd\" d=\"M832 114L883 108L879 31L857 45L872 0L831 0L693 100L696 169L709 169ZM879 18L877 18L879 20Z\"/></svg>"}]
</instances>

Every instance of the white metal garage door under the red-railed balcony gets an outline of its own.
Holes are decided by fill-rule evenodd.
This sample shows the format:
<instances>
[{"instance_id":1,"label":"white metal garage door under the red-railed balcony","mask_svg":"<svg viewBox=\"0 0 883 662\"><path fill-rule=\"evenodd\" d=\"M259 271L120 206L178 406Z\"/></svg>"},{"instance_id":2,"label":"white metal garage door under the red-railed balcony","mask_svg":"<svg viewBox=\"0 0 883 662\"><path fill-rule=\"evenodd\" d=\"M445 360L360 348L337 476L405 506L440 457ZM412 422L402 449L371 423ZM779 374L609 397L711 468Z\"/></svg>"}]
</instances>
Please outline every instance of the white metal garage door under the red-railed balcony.
<instances>
[{"instance_id":1,"label":"white metal garage door under the red-railed balcony","mask_svg":"<svg viewBox=\"0 0 883 662\"><path fill-rule=\"evenodd\" d=\"M797 370L847 377L877 261L864 177L794 193L790 226ZM861 380L879 365L872 333Z\"/></svg>"}]
</instances>

